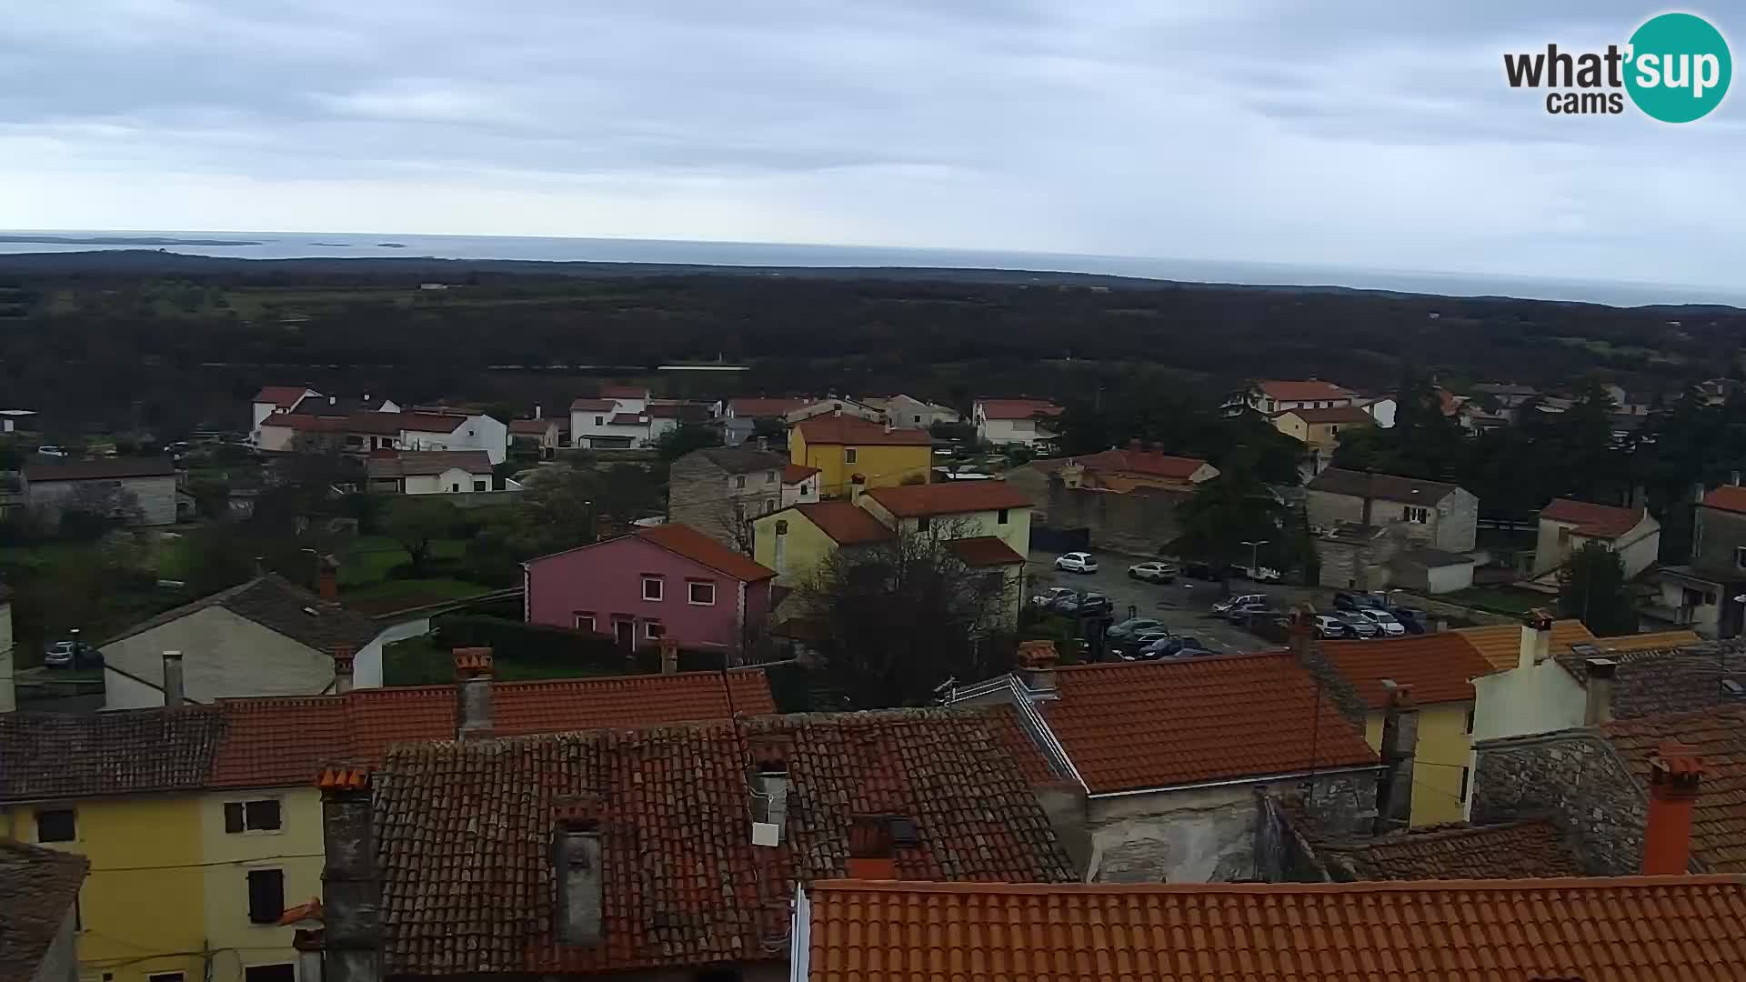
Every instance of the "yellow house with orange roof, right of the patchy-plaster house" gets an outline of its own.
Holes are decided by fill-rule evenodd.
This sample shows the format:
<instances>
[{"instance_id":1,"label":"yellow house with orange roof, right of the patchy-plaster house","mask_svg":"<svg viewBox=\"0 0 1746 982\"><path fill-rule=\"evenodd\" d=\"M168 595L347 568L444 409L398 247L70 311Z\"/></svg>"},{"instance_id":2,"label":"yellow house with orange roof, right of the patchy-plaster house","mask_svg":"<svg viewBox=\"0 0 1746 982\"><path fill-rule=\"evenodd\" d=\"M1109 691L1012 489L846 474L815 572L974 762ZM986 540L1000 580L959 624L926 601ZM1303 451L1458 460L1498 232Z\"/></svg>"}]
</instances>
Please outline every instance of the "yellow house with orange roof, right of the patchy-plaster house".
<instances>
[{"instance_id":1,"label":"yellow house with orange roof, right of the patchy-plaster house","mask_svg":"<svg viewBox=\"0 0 1746 982\"><path fill-rule=\"evenodd\" d=\"M1383 680L1411 687L1418 709L1411 821L1414 826L1461 821L1472 790L1470 680L1491 673L1491 662L1453 631L1381 641L1322 641L1322 654L1364 701L1364 739L1376 750L1383 746Z\"/></svg>"}]
</instances>

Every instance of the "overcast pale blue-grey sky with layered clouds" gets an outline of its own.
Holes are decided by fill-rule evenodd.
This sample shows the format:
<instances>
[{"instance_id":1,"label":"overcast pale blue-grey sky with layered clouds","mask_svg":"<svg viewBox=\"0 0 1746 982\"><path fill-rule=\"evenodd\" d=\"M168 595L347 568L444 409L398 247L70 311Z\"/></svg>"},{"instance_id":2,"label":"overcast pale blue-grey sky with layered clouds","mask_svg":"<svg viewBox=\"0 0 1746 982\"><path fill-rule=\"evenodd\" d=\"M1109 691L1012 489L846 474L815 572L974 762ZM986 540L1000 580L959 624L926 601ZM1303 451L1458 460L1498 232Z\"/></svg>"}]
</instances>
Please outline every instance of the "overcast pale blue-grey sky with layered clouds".
<instances>
[{"instance_id":1,"label":"overcast pale blue-grey sky with layered clouds","mask_svg":"<svg viewBox=\"0 0 1746 982\"><path fill-rule=\"evenodd\" d=\"M0 7L9 229L808 241L1727 287L1746 266L1737 93L1664 126L1552 117L1503 84L1503 51L1622 44L1653 3Z\"/></svg>"}]
</instances>

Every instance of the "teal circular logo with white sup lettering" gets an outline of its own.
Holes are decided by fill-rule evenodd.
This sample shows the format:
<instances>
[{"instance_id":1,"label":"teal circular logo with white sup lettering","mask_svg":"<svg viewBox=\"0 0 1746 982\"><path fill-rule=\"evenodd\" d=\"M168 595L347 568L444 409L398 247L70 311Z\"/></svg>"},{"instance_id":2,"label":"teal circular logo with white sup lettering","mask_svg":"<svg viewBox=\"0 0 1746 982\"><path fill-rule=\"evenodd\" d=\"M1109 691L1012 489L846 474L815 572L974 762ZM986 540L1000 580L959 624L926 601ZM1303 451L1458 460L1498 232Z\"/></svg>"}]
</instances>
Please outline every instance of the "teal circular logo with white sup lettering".
<instances>
[{"instance_id":1,"label":"teal circular logo with white sup lettering","mask_svg":"<svg viewBox=\"0 0 1746 982\"><path fill-rule=\"evenodd\" d=\"M1662 122L1709 115L1729 94L1734 59L1729 42L1695 14L1660 14L1631 35L1626 91Z\"/></svg>"}]
</instances>

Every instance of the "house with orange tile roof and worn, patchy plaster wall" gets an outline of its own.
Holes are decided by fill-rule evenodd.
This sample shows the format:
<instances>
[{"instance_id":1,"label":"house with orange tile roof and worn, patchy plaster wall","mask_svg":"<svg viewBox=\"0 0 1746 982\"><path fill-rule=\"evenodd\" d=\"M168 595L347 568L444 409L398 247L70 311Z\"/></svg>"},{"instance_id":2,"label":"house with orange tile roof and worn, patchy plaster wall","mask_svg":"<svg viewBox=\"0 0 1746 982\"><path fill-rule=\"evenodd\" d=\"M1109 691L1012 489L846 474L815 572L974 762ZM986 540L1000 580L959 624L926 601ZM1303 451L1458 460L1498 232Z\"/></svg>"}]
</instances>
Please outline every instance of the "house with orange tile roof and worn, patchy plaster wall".
<instances>
[{"instance_id":1,"label":"house with orange tile roof and worn, patchy plaster wall","mask_svg":"<svg viewBox=\"0 0 1746 982\"><path fill-rule=\"evenodd\" d=\"M1055 818L1086 881L1255 877L1259 790L1304 793L1341 832L1376 821L1383 760L1365 743L1364 708L1308 647L1056 667L1039 641L1018 671L946 702L1016 709L1079 792Z\"/></svg>"}]
</instances>

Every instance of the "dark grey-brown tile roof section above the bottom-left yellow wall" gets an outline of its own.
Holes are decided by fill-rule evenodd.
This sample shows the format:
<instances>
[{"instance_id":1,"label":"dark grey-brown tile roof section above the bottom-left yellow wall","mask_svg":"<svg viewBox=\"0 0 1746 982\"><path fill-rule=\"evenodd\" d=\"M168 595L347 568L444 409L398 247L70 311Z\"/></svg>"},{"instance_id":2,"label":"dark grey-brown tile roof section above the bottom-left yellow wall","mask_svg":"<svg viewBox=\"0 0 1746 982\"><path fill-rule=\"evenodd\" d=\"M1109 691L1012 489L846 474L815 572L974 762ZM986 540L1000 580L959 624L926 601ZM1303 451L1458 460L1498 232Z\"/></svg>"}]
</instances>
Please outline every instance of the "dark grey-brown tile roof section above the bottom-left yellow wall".
<instances>
[{"instance_id":1,"label":"dark grey-brown tile roof section above the bottom-left yellow wall","mask_svg":"<svg viewBox=\"0 0 1746 982\"><path fill-rule=\"evenodd\" d=\"M0 802L201 788L223 725L210 706L0 713Z\"/></svg>"}]
</instances>

